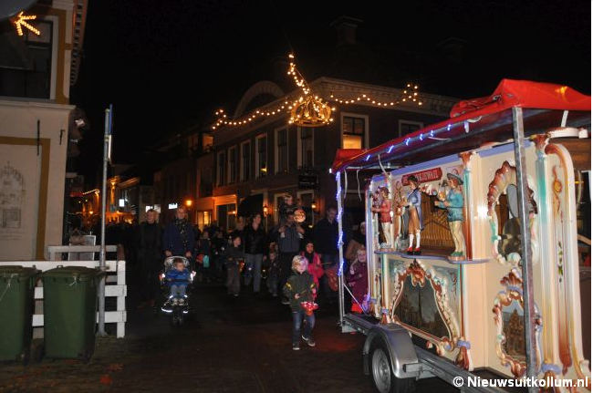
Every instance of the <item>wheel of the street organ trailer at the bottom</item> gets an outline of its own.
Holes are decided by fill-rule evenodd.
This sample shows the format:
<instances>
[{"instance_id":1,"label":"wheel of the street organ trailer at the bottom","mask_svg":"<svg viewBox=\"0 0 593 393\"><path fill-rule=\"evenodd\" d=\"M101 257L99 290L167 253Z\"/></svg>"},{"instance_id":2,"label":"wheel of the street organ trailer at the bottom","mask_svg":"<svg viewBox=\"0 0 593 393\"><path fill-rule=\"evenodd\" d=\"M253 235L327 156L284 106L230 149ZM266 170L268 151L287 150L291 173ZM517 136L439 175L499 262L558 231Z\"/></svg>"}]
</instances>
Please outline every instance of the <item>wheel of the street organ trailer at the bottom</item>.
<instances>
[{"instance_id":1,"label":"wheel of the street organ trailer at the bottom","mask_svg":"<svg viewBox=\"0 0 593 393\"><path fill-rule=\"evenodd\" d=\"M383 340L374 340L369 351L370 385L379 393L413 393L415 378L399 378L393 375L389 350Z\"/></svg>"}]
</instances>

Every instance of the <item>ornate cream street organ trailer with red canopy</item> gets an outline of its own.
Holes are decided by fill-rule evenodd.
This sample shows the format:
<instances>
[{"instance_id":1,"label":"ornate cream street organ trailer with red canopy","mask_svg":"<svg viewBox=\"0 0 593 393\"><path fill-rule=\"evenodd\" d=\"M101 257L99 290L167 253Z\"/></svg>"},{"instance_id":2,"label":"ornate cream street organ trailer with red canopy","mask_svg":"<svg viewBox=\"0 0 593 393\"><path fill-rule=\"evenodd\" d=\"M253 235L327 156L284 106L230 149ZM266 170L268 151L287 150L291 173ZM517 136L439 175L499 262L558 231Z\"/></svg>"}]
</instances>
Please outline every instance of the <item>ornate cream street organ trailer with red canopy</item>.
<instances>
[{"instance_id":1,"label":"ornate cream street organ trailer with red canopy","mask_svg":"<svg viewBox=\"0 0 593 393\"><path fill-rule=\"evenodd\" d=\"M412 391L421 377L463 391L590 391L590 294L581 308L579 286L590 109L572 88L504 79L451 119L338 151L339 233L349 178L369 176L366 313L344 310L342 263L339 318L367 336L363 371L377 391Z\"/></svg>"}]
</instances>

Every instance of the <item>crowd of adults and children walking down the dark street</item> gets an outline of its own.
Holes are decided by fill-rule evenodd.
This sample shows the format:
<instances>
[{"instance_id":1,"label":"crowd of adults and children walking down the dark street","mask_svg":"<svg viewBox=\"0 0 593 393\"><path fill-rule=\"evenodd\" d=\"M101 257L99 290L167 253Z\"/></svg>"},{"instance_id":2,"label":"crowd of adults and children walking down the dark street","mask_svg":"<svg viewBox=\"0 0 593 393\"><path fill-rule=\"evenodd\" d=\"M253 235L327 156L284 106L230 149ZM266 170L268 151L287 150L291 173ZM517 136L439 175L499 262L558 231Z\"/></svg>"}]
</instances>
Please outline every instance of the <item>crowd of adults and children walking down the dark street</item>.
<instances>
[{"instance_id":1,"label":"crowd of adults and children walking down the dark street","mask_svg":"<svg viewBox=\"0 0 593 393\"><path fill-rule=\"evenodd\" d=\"M278 207L279 219L269 231L265 231L260 212L239 220L232 230L225 230L216 222L202 229L193 226L183 207L176 210L172 222L161 228L157 212L148 211L146 221L135 229L133 240L130 235L124 239L130 250L127 257L133 252L130 259L140 270L139 308L155 304L164 257L184 256L199 282L224 283L231 297L239 296L242 289L249 295L260 295L265 289L279 298L280 303L290 306L293 315L293 349L299 349L301 339L315 346L315 314L304 305L317 307L319 295L324 297L325 306L337 302L338 212L335 206L327 206L324 217L310 228L298 219L298 210L292 196L286 195ZM342 239L342 271L349 289L345 303L351 312L363 313L368 292L364 222L353 231L345 220Z\"/></svg>"}]
</instances>

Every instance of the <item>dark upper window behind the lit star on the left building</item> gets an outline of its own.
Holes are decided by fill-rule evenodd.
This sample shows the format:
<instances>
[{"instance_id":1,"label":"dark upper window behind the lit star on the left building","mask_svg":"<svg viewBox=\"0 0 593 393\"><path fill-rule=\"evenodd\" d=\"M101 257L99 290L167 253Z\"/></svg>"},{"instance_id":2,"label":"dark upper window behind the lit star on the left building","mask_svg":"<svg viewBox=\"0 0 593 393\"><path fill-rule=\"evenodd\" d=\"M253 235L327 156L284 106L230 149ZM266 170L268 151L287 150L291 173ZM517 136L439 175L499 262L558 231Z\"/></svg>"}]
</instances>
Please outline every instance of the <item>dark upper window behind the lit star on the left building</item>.
<instances>
[{"instance_id":1,"label":"dark upper window behind the lit star on the left building","mask_svg":"<svg viewBox=\"0 0 593 393\"><path fill-rule=\"evenodd\" d=\"M51 81L52 67L56 60L52 57L54 23L50 20L36 20L35 26L41 35L36 36L23 29L24 36L16 40L19 44L18 52L22 53L12 62L3 62L0 66L0 96L54 98ZM15 35L15 32L9 31L9 34ZM10 41L0 41L0 53L15 52Z\"/></svg>"}]
</instances>

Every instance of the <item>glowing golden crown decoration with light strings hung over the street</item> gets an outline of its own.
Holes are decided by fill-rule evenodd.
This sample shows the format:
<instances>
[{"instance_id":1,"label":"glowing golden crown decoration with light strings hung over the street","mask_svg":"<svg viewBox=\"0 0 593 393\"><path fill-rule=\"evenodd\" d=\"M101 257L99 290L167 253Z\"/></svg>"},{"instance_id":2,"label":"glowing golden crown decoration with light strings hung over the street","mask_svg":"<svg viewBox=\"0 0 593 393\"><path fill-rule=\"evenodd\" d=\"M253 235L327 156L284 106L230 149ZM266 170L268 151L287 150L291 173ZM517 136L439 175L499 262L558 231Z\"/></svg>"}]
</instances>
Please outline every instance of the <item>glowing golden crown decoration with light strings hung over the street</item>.
<instances>
[{"instance_id":1,"label":"glowing golden crown decoration with light strings hung over the street","mask_svg":"<svg viewBox=\"0 0 593 393\"><path fill-rule=\"evenodd\" d=\"M333 121L331 112L335 111L336 108L331 108L322 98L311 94L311 88L309 88L307 84L307 79L304 78L296 68L295 56L289 54L288 58L290 59L290 64L286 74L293 78L296 87L302 90L302 95L299 98L296 98L292 102L286 100L269 109L257 109L249 115L239 119L229 119L224 112L224 109L218 109L214 112L217 120L213 124L212 129L218 129L224 126L244 126L256 119L275 116L276 114L286 111L290 114L290 118L288 119L289 124L296 124L304 127L317 127ZM403 96L398 100L386 101L372 98L368 94L362 94L356 98L336 98L333 93L330 95L330 99L342 105L357 104L366 101L367 104L376 105L382 108L394 107L400 105L402 102L415 103L419 107L422 105L418 93L418 85L412 83L409 83L406 86L403 90Z\"/></svg>"}]
</instances>

